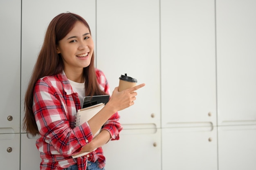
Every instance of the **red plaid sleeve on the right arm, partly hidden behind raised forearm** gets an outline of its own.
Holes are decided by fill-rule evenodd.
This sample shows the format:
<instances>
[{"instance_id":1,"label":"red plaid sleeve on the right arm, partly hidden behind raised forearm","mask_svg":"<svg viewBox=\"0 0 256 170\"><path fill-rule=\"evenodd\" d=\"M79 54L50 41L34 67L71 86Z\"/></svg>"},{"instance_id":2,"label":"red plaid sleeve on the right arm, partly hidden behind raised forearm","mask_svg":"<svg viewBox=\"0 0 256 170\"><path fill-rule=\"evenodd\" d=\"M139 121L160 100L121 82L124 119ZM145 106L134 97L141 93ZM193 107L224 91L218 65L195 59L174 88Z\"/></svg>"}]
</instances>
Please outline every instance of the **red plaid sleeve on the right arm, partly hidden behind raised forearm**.
<instances>
[{"instance_id":1,"label":"red plaid sleeve on the right arm, partly hidden behind raised forearm","mask_svg":"<svg viewBox=\"0 0 256 170\"><path fill-rule=\"evenodd\" d=\"M96 70L97 80L99 83L100 88L110 95L110 89L108 85L108 81L104 75L104 73L100 70ZM123 129L121 124L119 123L120 116L118 113L112 115L108 121L103 125L102 130L108 130L111 135L111 140L118 140L119 139L119 132Z\"/></svg>"}]
</instances>

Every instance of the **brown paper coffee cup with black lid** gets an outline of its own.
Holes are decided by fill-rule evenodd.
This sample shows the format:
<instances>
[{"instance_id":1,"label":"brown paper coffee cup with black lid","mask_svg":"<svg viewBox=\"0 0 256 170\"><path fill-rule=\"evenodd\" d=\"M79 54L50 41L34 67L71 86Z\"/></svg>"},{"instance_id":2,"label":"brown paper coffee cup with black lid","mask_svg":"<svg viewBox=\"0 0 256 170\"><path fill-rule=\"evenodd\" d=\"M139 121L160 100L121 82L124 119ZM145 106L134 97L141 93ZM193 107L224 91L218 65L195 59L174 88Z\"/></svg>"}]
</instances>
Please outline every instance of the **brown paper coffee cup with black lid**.
<instances>
[{"instance_id":1,"label":"brown paper coffee cup with black lid","mask_svg":"<svg viewBox=\"0 0 256 170\"><path fill-rule=\"evenodd\" d=\"M124 75L121 75L119 77L118 91L123 91L123 90L126 90L128 88L132 88L132 87L136 86L136 84L137 84L137 79L129 77L125 73Z\"/></svg>"}]
</instances>

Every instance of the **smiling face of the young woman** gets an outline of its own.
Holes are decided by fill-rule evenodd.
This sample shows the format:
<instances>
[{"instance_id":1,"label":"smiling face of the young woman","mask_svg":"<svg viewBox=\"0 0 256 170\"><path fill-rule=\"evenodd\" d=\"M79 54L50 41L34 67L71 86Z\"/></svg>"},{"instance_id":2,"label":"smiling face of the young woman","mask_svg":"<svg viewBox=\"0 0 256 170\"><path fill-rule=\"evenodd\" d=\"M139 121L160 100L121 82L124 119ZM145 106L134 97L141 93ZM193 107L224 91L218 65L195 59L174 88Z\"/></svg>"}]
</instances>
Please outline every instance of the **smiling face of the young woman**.
<instances>
[{"instance_id":1,"label":"smiling face of the young woman","mask_svg":"<svg viewBox=\"0 0 256 170\"><path fill-rule=\"evenodd\" d=\"M65 72L83 71L91 62L93 50L94 44L89 29L79 21L57 46L57 53L61 53Z\"/></svg>"}]
</instances>

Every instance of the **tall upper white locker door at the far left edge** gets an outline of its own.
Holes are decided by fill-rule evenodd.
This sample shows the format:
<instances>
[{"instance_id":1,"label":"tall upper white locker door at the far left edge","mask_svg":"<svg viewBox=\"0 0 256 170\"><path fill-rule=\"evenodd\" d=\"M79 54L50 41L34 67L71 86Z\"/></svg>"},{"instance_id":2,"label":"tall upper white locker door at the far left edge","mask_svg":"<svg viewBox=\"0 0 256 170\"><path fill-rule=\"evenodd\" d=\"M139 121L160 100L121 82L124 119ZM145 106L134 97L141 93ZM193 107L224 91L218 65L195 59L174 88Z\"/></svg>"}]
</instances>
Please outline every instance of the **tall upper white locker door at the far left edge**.
<instances>
[{"instance_id":1,"label":"tall upper white locker door at the far left edge","mask_svg":"<svg viewBox=\"0 0 256 170\"><path fill-rule=\"evenodd\" d=\"M21 2L0 2L0 134L20 132Z\"/></svg>"}]
</instances>

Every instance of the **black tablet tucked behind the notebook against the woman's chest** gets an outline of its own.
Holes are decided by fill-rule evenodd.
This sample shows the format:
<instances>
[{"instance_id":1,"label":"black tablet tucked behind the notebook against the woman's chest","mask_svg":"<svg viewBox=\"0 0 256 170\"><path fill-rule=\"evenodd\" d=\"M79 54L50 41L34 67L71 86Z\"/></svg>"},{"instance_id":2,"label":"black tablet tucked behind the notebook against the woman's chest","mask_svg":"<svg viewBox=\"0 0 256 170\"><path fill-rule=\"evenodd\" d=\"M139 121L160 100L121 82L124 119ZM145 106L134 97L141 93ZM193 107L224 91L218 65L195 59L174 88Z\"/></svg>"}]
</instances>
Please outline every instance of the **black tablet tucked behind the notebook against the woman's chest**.
<instances>
[{"instance_id":1,"label":"black tablet tucked behind the notebook against the woman's chest","mask_svg":"<svg viewBox=\"0 0 256 170\"><path fill-rule=\"evenodd\" d=\"M95 104L104 103L107 104L109 101L110 95L97 95L97 96L85 96L83 98L82 108L87 108Z\"/></svg>"}]
</instances>

